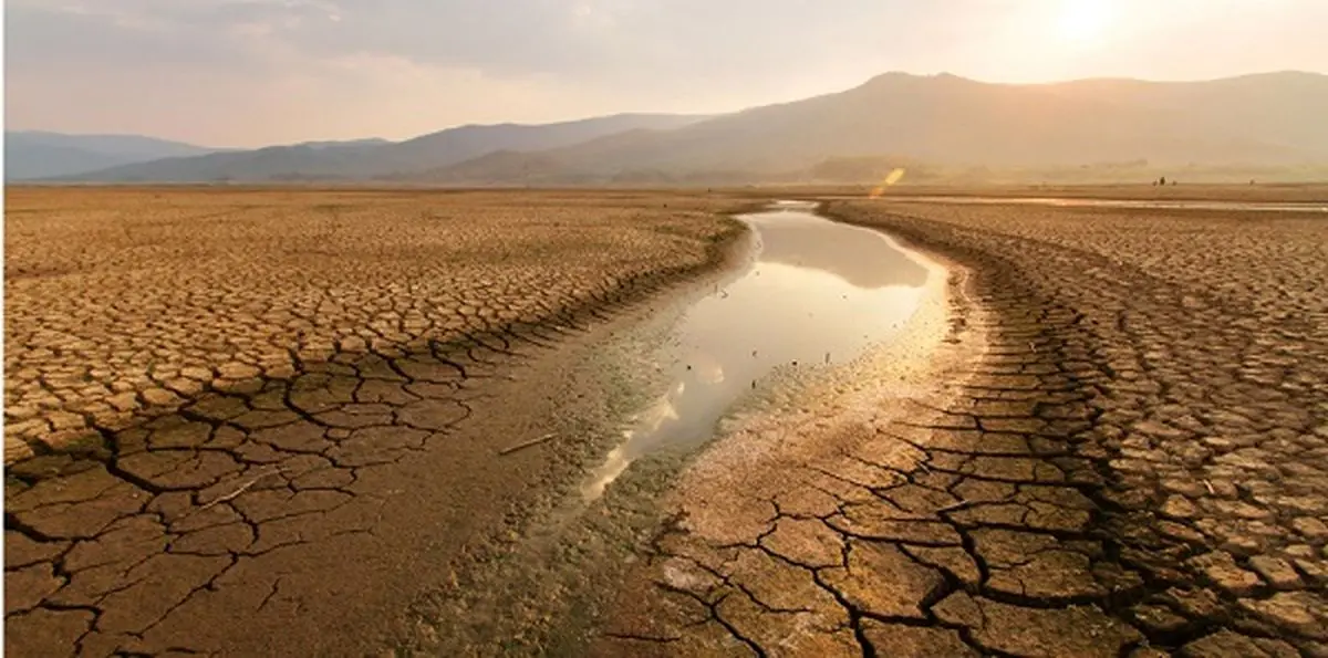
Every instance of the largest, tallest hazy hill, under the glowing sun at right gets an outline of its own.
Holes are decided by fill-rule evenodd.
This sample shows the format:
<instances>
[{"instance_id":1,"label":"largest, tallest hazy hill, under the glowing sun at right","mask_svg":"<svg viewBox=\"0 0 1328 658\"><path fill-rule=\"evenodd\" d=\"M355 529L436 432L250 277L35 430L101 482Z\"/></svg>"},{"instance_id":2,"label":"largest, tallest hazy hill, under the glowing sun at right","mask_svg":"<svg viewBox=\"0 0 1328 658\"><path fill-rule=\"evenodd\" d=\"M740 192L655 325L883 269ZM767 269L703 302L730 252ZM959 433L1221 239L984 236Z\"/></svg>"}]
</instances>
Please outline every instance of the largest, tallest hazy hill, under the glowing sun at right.
<instances>
[{"instance_id":1,"label":"largest, tallest hazy hill, under the glowing sun at right","mask_svg":"<svg viewBox=\"0 0 1328 658\"><path fill-rule=\"evenodd\" d=\"M984 84L888 73L847 92L754 107L675 130L637 130L538 157L546 179L688 176L742 171L762 179L843 158L894 157L984 167L1089 167L1328 162L1328 76L1270 73L1206 82L1086 80ZM486 182L514 180L487 163ZM527 167L529 168L529 167ZM418 178L477 183L473 163Z\"/></svg>"}]
</instances>

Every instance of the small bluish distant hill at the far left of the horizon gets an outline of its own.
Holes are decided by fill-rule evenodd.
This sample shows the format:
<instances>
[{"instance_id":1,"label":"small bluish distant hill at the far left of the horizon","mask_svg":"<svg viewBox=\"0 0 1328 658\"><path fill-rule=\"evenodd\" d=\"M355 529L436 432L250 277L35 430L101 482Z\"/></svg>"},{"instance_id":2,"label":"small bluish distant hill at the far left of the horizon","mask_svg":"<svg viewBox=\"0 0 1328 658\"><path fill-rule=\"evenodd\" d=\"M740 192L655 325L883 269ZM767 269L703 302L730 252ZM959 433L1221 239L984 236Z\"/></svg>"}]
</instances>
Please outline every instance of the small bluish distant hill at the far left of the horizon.
<instances>
[{"instance_id":1,"label":"small bluish distant hill at the far left of the horizon","mask_svg":"<svg viewBox=\"0 0 1328 658\"><path fill-rule=\"evenodd\" d=\"M161 158L202 155L202 146L143 135L73 135L39 130L4 134L5 180L54 178Z\"/></svg>"}]
</instances>

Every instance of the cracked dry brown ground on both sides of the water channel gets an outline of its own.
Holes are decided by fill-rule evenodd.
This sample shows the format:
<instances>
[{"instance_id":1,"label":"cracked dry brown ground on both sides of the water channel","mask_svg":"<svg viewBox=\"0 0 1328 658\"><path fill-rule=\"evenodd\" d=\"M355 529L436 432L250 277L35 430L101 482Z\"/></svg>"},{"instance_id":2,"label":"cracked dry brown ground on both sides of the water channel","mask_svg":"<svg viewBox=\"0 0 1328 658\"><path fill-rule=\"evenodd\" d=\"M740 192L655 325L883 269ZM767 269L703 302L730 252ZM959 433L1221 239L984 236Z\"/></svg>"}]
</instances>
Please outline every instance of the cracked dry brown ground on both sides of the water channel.
<instances>
[{"instance_id":1,"label":"cracked dry brown ground on both sides of the water channel","mask_svg":"<svg viewBox=\"0 0 1328 658\"><path fill-rule=\"evenodd\" d=\"M614 415L587 358L718 268L750 203L8 194L15 655L418 633L381 620L491 560L475 540L596 448L505 447ZM697 455L575 646L1328 655L1328 216L823 212L950 268L927 358L858 363ZM558 653L509 639L470 653Z\"/></svg>"}]
</instances>

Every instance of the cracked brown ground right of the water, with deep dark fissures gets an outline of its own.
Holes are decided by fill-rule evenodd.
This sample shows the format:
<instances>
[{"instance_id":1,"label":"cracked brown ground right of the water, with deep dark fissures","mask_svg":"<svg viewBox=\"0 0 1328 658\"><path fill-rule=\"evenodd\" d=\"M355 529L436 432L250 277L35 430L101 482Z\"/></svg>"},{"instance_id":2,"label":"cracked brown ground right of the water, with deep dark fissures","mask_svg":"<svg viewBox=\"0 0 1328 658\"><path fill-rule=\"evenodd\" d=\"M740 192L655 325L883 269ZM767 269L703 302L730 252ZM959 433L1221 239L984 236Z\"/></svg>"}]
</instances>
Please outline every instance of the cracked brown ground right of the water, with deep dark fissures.
<instances>
[{"instance_id":1,"label":"cracked brown ground right of the water, with deep dark fissures","mask_svg":"<svg viewBox=\"0 0 1328 658\"><path fill-rule=\"evenodd\" d=\"M1328 655L1328 222L827 211L967 272L932 383L703 456L602 655Z\"/></svg>"}]
</instances>

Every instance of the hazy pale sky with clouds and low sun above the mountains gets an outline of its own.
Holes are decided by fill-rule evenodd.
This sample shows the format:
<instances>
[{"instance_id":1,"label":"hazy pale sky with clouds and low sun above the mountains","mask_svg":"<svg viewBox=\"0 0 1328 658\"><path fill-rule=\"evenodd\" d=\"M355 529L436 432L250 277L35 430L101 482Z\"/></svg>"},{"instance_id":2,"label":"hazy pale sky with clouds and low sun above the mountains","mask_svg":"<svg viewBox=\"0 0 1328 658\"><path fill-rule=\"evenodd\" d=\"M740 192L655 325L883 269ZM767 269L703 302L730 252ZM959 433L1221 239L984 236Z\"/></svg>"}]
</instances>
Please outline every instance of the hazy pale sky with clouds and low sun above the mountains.
<instances>
[{"instance_id":1,"label":"hazy pale sky with clouds and low sun above the mountains","mask_svg":"<svg viewBox=\"0 0 1328 658\"><path fill-rule=\"evenodd\" d=\"M11 129L207 146L726 111L888 70L1328 72L1328 0L8 0Z\"/></svg>"}]
</instances>

